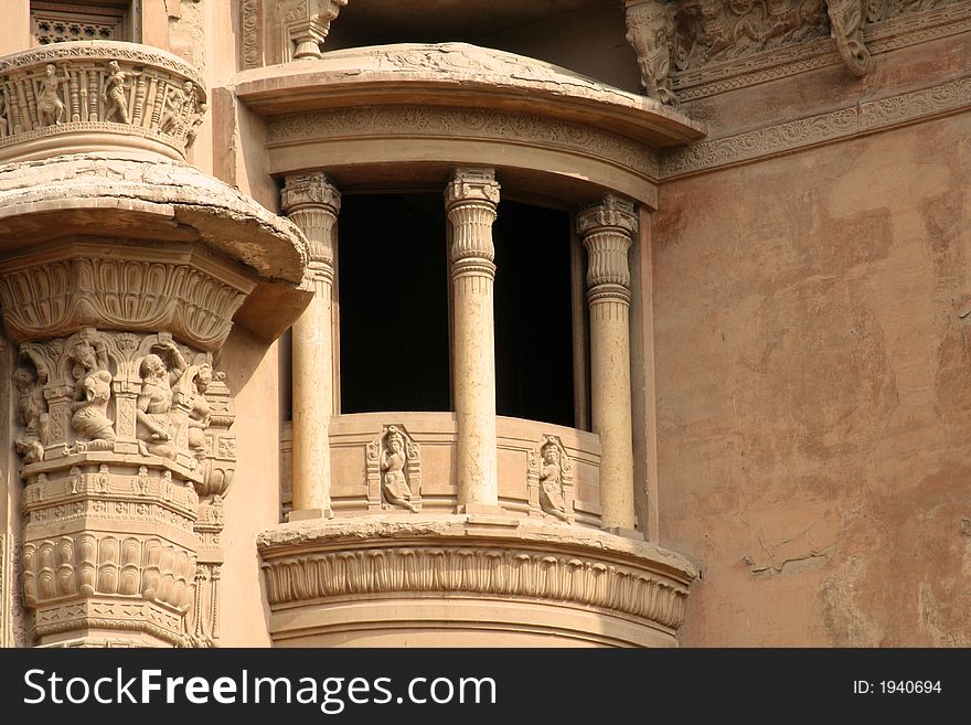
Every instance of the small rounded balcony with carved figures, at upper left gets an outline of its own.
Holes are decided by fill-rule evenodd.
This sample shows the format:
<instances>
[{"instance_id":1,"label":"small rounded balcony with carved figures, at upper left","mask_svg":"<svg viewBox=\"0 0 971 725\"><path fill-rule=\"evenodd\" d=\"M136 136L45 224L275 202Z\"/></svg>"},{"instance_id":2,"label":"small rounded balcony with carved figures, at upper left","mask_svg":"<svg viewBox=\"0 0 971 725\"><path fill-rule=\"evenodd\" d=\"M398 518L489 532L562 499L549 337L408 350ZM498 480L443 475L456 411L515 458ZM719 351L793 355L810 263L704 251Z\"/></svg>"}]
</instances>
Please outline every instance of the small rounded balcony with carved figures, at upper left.
<instances>
[{"instance_id":1,"label":"small rounded balcony with carved figures, at upper left","mask_svg":"<svg viewBox=\"0 0 971 725\"><path fill-rule=\"evenodd\" d=\"M135 43L56 43L8 55L0 87L0 162L88 151L184 159L206 108L192 66Z\"/></svg>"}]
</instances>

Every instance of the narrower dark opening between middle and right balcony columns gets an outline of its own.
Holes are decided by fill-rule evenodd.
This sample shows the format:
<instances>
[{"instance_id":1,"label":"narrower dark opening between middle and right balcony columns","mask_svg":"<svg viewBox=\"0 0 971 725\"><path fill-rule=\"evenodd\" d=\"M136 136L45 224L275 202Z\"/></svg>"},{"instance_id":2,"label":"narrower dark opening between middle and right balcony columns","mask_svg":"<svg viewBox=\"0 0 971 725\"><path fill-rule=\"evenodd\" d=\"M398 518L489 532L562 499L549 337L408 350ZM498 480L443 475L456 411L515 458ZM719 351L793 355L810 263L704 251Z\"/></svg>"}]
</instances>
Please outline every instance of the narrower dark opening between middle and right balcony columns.
<instances>
[{"instance_id":1,"label":"narrower dark opening between middle and right balcony columns","mask_svg":"<svg viewBox=\"0 0 971 725\"><path fill-rule=\"evenodd\" d=\"M503 201L493 241L497 413L573 427L569 215Z\"/></svg>"}]
</instances>

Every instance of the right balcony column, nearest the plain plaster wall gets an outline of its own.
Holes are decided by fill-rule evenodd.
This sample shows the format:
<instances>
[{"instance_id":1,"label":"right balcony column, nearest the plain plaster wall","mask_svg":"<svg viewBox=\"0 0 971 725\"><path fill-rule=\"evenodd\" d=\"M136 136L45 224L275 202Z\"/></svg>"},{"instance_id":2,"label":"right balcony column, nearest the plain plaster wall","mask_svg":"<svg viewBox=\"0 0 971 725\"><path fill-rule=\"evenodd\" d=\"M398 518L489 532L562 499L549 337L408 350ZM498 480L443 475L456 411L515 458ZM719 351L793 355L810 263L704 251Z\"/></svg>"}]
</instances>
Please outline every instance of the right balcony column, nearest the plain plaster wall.
<instances>
[{"instance_id":1,"label":"right balcony column, nearest the plain plaster wall","mask_svg":"<svg viewBox=\"0 0 971 725\"><path fill-rule=\"evenodd\" d=\"M605 529L630 531L634 505L627 253L636 231L633 204L613 195L577 216L589 262L590 387L594 433L600 435L601 522Z\"/></svg>"}]
</instances>

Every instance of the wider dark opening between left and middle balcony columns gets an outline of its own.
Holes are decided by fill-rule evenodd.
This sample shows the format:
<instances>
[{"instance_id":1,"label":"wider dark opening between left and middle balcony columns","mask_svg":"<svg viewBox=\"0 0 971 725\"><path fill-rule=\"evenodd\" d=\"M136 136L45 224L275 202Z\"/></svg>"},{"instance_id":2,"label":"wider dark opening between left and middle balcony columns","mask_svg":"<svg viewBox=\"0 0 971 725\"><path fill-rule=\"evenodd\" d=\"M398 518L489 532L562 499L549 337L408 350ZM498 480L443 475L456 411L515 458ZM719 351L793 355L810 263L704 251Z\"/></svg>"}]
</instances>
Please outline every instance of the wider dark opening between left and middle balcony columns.
<instances>
[{"instance_id":1,"label":"wider dark opening between left and middle balcony columns","mask_svg":"<svg viewBox=\"0 0 971 725\"><path fill-rule=\"evenodd\" d=\"M343 198L341 413L449 409L445 238L441 194Z\"/></svg>"}]
</instances>

